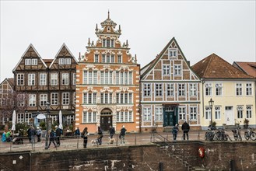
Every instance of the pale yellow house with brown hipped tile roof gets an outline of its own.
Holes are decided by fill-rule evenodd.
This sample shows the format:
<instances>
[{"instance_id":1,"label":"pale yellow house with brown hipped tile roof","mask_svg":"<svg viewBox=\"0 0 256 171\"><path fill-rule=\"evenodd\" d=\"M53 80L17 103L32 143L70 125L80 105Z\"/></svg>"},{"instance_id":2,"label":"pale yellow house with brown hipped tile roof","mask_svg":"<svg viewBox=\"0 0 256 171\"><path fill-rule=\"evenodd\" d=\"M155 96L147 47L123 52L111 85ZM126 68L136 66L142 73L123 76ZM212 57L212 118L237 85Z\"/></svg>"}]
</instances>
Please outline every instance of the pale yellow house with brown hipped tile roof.
<instances>
[{"instance_id":1,"label":"pale yellow house with brown hipped tile roof","mask_svg":"<svg viewBox=\"0 0 256 171\"><path fill-rule=\"evenodd\" d=\"M241 72L216 54L198 61L192 66L202 79L202 128L206 129L211 120L217 126L244 125L249 120L255 123L255 79ZM212 110L209 100L212 99Z\"/></svg>"}]
</instances>

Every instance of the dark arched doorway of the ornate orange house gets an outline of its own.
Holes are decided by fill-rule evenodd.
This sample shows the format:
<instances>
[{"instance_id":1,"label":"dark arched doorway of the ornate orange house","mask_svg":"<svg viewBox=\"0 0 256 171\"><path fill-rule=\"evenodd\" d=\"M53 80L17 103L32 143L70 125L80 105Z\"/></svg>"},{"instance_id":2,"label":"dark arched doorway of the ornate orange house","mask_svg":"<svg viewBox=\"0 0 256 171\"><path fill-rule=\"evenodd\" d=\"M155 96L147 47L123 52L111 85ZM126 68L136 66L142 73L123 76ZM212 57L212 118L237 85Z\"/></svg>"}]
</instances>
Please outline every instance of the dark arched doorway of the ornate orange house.
<instances>
[{"instance_id":1,"label":"dark arched doorway of the ornate orange house","mask_svg":"<svg viewBox=\"0 0 256 171\"><path fill-rule=\"evenodd\" d=\"M108 131L110 126L112 126L112 111L103 109L100 112L100 127L103 131Z\"/></svg>"}]
</instances>

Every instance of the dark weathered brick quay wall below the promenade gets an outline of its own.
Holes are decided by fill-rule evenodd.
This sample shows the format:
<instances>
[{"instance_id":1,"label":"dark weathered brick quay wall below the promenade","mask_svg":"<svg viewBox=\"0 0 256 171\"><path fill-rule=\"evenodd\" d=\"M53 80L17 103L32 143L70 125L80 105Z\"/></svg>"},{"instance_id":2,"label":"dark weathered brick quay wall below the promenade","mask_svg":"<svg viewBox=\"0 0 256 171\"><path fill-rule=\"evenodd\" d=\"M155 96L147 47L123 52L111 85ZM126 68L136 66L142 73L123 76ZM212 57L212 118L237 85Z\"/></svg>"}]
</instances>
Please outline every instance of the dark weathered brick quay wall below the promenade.
<instances>
[{"instance_id":1,"label":"dark weathered brick quay wall below the promenade","mask_svg":"<svg viewBox=\"0 0 256 171\"><path fill-rule=\"evenodd\" d=\"M198 148L205 149L204 158ZM2 152L0 170L256 170L254 141L177 141L170 145L132 145L44 152Z\"/></svg>"}]
</instances>

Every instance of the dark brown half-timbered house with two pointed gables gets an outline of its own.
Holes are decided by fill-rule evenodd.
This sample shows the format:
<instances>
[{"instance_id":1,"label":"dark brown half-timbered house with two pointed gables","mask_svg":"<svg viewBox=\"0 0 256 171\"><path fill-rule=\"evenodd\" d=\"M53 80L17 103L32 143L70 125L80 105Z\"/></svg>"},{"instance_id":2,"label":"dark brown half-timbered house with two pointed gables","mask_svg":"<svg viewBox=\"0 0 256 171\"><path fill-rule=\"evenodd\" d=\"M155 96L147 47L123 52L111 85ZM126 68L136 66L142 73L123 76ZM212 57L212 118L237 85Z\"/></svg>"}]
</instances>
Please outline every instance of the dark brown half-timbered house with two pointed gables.
<instances>
[{"instance_id":1,"label":"dark brown half-timbered house with two pointed gables","mask_svg":"<svg viewBox=\"0 0 256 171\"><path fill-rule=\"evenodd\" d=\"M46 103L50 103L52 122L58 122L61 111L66 124L75 120L75 60L68 47L63 44L54 59L43 59L32 44L26 49L13 69L14 89L26 92L26 110L17 113L17 122L38 125L39 113L46 113ZM26 103L26 104L25 104Z\"/></svg>"}]
</instances>

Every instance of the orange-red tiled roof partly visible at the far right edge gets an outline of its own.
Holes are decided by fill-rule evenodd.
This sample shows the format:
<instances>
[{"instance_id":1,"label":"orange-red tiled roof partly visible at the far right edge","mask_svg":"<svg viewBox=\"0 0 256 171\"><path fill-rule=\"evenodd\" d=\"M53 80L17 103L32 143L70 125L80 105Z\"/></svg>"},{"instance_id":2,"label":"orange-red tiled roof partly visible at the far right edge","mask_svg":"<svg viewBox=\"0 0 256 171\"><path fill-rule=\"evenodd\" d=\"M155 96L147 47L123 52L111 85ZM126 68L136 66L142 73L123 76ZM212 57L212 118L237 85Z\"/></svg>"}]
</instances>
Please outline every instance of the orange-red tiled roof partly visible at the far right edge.
<instances>
[{"instance_id":1,"label":"orange-red tiled roof partly visible at the far right edge","mask_svg":"<svg viewBox=\"0 0 256 171\"><path fill-rule=\"evenodd\" d=\"M256 62L234 61L233 66L256 78Z\"/></svg>"}]
</instances>

